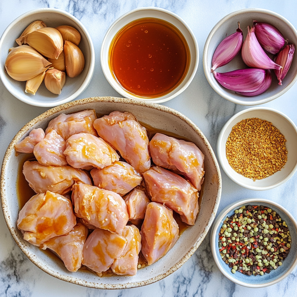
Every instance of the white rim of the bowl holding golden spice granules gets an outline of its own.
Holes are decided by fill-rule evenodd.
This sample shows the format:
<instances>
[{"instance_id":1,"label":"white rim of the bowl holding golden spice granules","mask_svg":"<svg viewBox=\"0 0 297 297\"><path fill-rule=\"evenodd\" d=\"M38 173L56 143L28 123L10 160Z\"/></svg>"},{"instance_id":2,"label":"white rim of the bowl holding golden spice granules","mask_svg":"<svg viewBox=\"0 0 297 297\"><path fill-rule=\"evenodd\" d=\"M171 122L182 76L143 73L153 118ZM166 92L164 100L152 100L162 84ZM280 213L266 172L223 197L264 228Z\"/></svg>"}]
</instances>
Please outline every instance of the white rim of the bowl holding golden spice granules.
<instances>
[{"instance_id":1,"label":"white rim of the bowl holding golden spice granules","mask_svg":"<svg viewBox=\"0 0 297 297\"><path fill-rule=\"evenodd\" d=\"M273 189L275 187L280 186L281 184L284 184L286 181L288 181L296 172L297 170L297 163L294 166L293 170L290 172L290 174L287 175L287 177L285 177L284 179L282 179L281 181L277 182L276 184L272 185L272 186L268 186L268 187L254 187L254 186L249 186L247 184L244 184L238 180L236 180L235 178L233 178L233 176L229 173L229 169L225 166L224 162L223 162L223 135L226 131L226 129L230 126L231 122L236 119L237 117L241 116L244 113L247 113L249 111L253 111L253 110L268 110L268 111L272 111L274 113L277 113L278 115L282 116L284 119L286 119L293 127L293 129L295 130L295 132L297 133L297 127L294 124L294 122L284 113L282 113L279 110L276 110L274 108L270 108L270 107L251 107L251 108L247 108L244 110L241 110L240 112L236 113L234 116L232 116L227 122L226 124L222 127L221 132L219 133L219 137L217 140L217 155L218 155L218 159L220 162L220 165L222 166L224 172L227 174L227 176L233 180L234 182L236 182L236 184L239 184L241 187L247 188L247 189L251 189L251 190L257 190L257 191L264 191L264 190L270 190ZM233 169L232 169L233 170Z\"/></svg>"}]
</instances>

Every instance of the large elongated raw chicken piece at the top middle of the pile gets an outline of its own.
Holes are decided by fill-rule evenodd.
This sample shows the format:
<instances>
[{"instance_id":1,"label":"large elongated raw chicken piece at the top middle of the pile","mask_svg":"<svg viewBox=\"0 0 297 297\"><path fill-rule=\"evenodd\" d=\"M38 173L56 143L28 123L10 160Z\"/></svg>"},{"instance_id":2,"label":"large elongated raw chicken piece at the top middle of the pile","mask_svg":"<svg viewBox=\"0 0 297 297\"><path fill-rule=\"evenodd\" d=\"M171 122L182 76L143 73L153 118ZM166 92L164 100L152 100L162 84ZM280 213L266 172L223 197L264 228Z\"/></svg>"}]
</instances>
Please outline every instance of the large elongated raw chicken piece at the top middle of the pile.
<instances>
[{"instance_id":1,"label":"large elongated raw chicken piece at the top middle of the pile","mask_svg":"<svg viewBox=\"0 0 297 297\"><path fill-rule=\"evenodd\" d=\"M131 113L113 111L94 121L100 137L110 143L137 171L145 172L151 166L149 138L146 128L140 126Z\"/></svg>"}]
</instances>

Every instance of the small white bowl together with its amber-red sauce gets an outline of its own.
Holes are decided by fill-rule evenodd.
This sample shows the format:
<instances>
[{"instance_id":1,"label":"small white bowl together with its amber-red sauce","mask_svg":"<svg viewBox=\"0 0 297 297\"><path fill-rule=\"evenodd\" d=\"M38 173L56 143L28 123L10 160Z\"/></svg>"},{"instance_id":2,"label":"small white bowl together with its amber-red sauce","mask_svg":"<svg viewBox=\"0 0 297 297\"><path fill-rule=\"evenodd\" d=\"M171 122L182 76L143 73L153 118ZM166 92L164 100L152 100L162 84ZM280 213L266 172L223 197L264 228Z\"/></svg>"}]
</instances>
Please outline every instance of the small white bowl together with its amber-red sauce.
<instances>
[{"instance_id":1,"label":"small white bowl together with its amber-red sauce","mask_svg":"<svg viewBox=\"0 0 297 297\"><path fill-rule=\"evenodd\" d=\"M181 94L198 68L197 40L178 15L137 8L118 18L102 42L101 67L122 96L162 103Z\"/></svg>"}]
</instances>

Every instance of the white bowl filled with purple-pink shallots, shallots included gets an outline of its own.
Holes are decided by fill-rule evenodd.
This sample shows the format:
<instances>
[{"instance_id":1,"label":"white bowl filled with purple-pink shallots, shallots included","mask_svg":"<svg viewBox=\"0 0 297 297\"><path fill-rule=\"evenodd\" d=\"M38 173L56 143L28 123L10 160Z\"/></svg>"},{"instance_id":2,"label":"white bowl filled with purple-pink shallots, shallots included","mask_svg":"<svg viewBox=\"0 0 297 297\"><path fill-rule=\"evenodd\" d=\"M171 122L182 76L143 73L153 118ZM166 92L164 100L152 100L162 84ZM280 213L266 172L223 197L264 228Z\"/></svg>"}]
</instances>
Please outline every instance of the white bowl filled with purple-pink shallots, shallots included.
<instances>
[{"instance_id":1,"label":"white bowl filled with purple-pink shallots, shallots included","mask_svg":"<svg viewBox=\"0 0 297 297\"><path fill-rule=\"evenodd\" d=\"M276 12L257 8L232 12L214 26L206 40L206 79L231 102L269 102L297 80L296 44L296 29Z\"/></svg>"}]
</instances>

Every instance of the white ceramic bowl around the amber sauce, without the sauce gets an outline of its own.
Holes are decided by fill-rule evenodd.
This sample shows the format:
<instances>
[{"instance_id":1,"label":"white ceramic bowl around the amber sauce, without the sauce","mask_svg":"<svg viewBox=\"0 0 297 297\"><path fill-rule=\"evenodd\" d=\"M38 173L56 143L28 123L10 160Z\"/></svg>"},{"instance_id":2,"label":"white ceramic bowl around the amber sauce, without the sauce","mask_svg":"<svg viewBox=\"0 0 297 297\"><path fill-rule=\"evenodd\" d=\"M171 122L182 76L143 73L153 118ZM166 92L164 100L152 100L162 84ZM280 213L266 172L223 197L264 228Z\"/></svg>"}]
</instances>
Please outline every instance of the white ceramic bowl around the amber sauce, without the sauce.
<instances>
[{"instance_id":1,"label":"white ceramic bowl around the amber sauce, without the sauce","mask_svg":"<svg viewBox=\"0 0 297 297\"><path fill-rule=\"evenodd\" d=\"M114 78L112 72L110 71L110 67L108 64L108 52L113 38L120 31L120 29L122 29L128 23L140 18L159 18L171 23L172 25L176 26L176 28L179 31L181 31L189 45L191 60L187 75L185 76L184 80L173 91L164 96L156 98L145 98L131 94L118 83L118 81ZM100 61L105 78L113 87L113 89L115 89L119 94L126 98L142 99L154 103L162 103L170 99L173 99L177 95L181 94L185 89L187 89L192 79L194 78L198 68L199 50L195 35L182 18L180 18L175 13L162 8L142 7L125 13L116 21L114 21L113 24L109 27L102 41Z\"/></svg>"}]
</instances>

